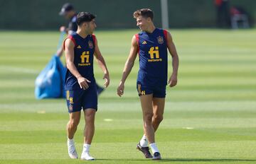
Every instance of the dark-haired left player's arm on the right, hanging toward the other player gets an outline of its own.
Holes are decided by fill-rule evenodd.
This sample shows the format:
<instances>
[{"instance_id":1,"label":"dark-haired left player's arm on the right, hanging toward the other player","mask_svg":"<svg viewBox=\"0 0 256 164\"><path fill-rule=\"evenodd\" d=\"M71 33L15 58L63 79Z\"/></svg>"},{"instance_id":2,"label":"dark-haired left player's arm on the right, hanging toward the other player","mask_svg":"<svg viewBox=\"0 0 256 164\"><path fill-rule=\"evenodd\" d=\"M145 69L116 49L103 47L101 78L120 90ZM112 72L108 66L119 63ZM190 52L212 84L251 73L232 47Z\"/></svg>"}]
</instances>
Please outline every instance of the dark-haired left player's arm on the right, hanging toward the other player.
<instances>
[{"instance_id":1,"label":"dark-haired left player's arm on the right, hanging toward the other player","mask_svg":"<svg viewBox=\"0 0 256 164\"><path fill-rule=\"evenodd\" d=\"M100 52L100 48L97 45L97 39L95 37L95 58L97 60L97 64L99 64L100 68L102 69L104 76L103 79L105 79L105 88L107 88L107 86L110 85L110 75L109 75L109 71L107 70L107 65L105 63L105 59L102 57L102 54Z\"/></svg>"}]
</instances>

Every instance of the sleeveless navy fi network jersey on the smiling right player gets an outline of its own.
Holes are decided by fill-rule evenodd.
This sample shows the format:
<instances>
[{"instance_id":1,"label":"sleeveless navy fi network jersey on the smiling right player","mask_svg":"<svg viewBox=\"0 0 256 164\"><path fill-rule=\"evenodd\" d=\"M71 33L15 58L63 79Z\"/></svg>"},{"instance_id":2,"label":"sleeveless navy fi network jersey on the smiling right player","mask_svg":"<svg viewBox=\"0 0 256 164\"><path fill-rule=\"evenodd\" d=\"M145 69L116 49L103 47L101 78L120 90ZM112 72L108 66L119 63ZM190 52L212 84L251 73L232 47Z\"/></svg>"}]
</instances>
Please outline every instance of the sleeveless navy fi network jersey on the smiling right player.
<instances>
[{"instance_id":1,"label":"sleeveless navy fi network jersey on the smiling right player","mask_svg":"<svg viewBox=\"0 0 256 164\"><path fill-rule=\"evenodd\" d=\"M167 84L166 30L156 28L153 33L141 32L136 36L139 45L139 73L137 83L146 86Z\"/></svg>"}]
</instances>

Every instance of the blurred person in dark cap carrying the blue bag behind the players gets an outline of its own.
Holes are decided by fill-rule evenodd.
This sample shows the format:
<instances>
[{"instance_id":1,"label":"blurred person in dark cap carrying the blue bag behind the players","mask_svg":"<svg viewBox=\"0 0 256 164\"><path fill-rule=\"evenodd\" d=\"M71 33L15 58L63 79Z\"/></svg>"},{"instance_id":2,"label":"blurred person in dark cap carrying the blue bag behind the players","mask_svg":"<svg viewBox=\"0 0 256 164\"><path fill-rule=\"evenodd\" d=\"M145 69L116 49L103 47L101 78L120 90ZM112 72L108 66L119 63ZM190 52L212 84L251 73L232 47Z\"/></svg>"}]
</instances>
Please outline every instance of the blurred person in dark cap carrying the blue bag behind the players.
<instances>
[{"instance_id":1,"label":"blurred person in dark cap carrying the blue bag behind the players","mask_svg":"<svg viewBox=\"0 0 256 164\"><path fill-rule=\"evenodd\" d=\"M68 35L71 35L71 34L75 33L76 30L78 30L78 25L76 23L78 14L76 13L75 8L73 7L72 4L70 4L70 3L63 4L63 7L61 8L59 15L64 16L65 19L69 20L68 28L66 28L65 26L61 26L60 32L65 32ZM60 47L60 49L58 49L56 54L58 57L61 57L63 54L63 47ZM97 85L97 83L96 83L96 86L97 86L97 95L100 95L100 93L102 93L104 88Z\"/></svg>"}]
</instances>

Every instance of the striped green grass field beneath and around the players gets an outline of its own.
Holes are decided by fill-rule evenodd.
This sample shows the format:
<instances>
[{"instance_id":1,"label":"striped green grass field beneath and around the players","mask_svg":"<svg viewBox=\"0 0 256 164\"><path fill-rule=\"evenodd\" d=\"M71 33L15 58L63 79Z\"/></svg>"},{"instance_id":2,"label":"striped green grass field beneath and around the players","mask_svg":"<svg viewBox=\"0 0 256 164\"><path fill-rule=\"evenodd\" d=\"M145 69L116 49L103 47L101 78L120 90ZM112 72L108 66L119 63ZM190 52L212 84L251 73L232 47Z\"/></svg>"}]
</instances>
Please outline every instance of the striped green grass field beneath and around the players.
<instances>
[{"instance_id":1,"label":"striped green grass field beneath and around the players","mask_svg":"<svg viewBox=\"0 0 256 164\"><path fill-rule=\"evenodd\" d=\"M97 160L92 163L156 163L136 150L143 133L135 86L138 62L123 98L116 94L137 32L96 32L111 84L99 99L91 148ZM164 121L156 133L160 163L256 163L256 30L171 33L180 69L178 86L167 88ZM55 52L59 34L0 35L0 163L88 163L68 157L65 100L35 100L33 95L35 78ZM97 67L95 76L104 83ZM75 135L79 155L83 126L81 121Z\"/></svg>"}]
</instances>

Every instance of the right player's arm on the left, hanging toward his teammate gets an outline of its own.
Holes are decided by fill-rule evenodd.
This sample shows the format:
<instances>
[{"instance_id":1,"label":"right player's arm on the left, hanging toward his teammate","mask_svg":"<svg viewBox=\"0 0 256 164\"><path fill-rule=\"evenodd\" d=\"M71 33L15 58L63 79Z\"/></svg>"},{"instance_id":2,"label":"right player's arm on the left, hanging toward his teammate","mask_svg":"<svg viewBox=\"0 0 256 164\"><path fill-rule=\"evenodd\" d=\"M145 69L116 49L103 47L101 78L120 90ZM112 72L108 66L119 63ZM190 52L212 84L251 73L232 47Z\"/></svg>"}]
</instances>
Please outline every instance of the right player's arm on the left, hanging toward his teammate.
<instances>
[{"instance_id":1,"label":"right player's arm on the left, hanging toward his teammate","mask_svg":"<svg viewBox=\"0 0 256 164\"><path fill-rule=\"evenodd\" d=\"M124 65L124 70L123 70L123 74L122 74L122 79L119 83L119 86L117 88L117 95L119 95L120 97L124 94L124 82L127 79L127 76L129 75L129 73L132 71L132 67L134 66L134 61L137 57L137 53L138 53L138 44L137 44L137 40L135 35L132 37L132 46L129 52L129 57Z\"/></svg>"}]
</instances>

